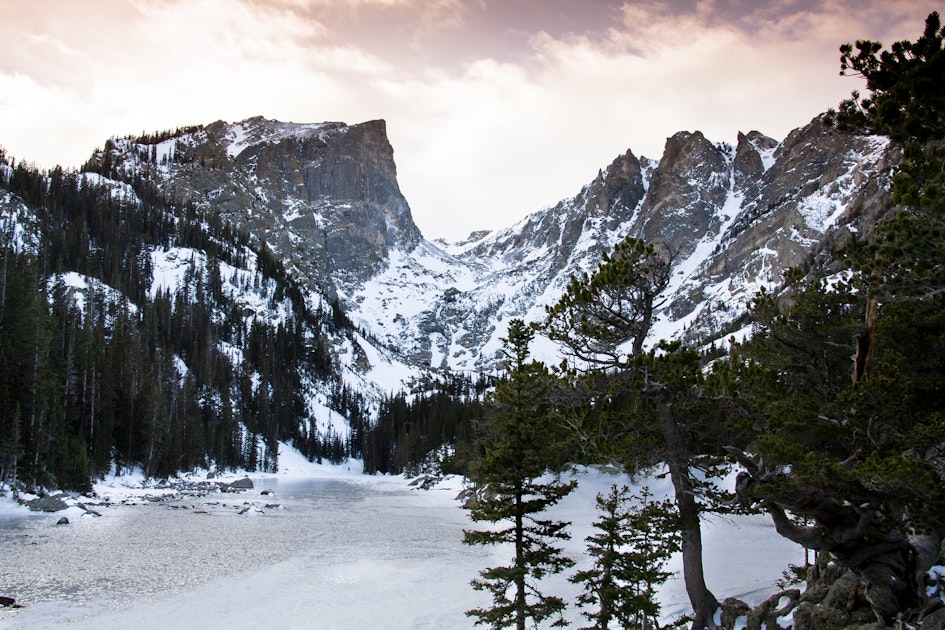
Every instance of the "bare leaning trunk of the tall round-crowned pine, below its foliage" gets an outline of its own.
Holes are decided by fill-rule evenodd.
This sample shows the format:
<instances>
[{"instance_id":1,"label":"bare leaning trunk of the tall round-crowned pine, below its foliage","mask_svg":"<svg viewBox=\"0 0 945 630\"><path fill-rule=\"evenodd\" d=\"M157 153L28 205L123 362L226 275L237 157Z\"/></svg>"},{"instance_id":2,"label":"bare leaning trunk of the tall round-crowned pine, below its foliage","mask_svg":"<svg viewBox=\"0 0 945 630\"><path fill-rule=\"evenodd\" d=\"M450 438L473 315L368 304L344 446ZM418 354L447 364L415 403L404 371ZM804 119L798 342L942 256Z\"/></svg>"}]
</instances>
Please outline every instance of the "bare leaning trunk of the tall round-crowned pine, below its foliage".
<instances>
[{"instance_id":1,"label":"bare leaning trunk of the tall round-crowned pine, below its foliage","mask_svg":"<svg viewBox=\"0 0 945 630\"><path fill-rule=\"evenodd\" d=\"M660 431L666 443L666 465L676 493L679 511L683 579L695 619L692 630L716 628L714 617L719 600L705 584L702 566L702 529L699 524L699 504L692 493L689 478L689 449L685 443L671 405L657 403Z\"/></svg>"}]
</instances>

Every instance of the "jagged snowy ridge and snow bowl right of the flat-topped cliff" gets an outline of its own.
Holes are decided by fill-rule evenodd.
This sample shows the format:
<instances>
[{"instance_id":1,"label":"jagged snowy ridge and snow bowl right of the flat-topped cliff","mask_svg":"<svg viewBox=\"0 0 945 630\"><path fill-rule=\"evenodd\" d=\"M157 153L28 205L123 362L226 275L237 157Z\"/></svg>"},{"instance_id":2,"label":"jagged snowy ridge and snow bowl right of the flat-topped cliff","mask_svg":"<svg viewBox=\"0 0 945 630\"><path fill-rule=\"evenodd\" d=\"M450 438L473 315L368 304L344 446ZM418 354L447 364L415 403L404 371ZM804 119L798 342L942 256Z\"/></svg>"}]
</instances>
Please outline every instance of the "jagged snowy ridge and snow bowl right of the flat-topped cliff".
<instances>
[{"instance_id":1,"label":"jagged snowy ridge and snow bowl right of the flat-topped cliff","mask_svg":"<svg viewBox=\"0 0 945 630\"><path fill-rule=\"evenodd\" d=\"M760 288L776 289L784 270L823 258L845 226L884 207L885 151L882 139L831 134L819 119L780 143L757 131L735 145L680 132L658 162L627 151L573 198L449 256L405 255L351 287L346 303L414 361L491 369L511 318L542 319L572 275L633 235L673 257L651 342L708 343L740 326ZM534 350L557 361L541 340Z\"/></svg>"}]
</instances>

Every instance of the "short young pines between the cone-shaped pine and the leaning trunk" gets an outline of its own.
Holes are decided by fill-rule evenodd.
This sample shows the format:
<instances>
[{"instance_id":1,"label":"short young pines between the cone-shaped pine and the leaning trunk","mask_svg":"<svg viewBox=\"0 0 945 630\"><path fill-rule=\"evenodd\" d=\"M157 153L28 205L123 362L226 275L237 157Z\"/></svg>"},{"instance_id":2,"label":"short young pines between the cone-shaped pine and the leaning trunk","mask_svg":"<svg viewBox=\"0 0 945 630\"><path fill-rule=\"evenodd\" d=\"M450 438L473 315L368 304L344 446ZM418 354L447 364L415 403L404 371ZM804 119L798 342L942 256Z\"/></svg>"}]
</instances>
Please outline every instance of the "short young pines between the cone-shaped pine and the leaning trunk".
<instances>
[{"instance_id":1,"label":"short young pines between the cone-shaped pine and the leaning trunk","mask_svg":"<svg viewBox=\"0 0 945 630\"><path fill-rule=\"evenodd\" d=\"M597 495L598 533L586 539L593 565L571 577L584 585L578 603L593 624L583 630L606 630L612 622L625 630L660 627L656 589L672 575L665 565L679 551L678 525L671 501L652 500L647 487L639 504L629 505L635 498L616 485Z\"/></svg>"}]
</instances>

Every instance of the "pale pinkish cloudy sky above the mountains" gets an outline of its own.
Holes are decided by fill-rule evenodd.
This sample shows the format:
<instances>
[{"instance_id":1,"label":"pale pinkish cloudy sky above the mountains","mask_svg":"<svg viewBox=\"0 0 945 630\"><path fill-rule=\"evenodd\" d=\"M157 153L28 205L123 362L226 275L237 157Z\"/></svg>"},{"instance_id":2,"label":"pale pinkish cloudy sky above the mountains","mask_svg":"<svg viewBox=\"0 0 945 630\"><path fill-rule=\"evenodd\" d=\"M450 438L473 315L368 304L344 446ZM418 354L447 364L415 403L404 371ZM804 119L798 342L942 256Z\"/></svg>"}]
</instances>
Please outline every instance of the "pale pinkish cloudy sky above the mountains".
<instances>
[{"instance_id":1,"label":"pale pinkish cloudy sky above the mountains","mask_svg":"<svg viewBox=\"0 0 945 630\"><path fill-rule=\"evenodd\" d=\"M250 116L387 120L428 238L511 225L668 136L781 139L862 87L844 42L921 0L0 0L0 145L77 167L110 136Z\"/></svg>"}]
</instances>

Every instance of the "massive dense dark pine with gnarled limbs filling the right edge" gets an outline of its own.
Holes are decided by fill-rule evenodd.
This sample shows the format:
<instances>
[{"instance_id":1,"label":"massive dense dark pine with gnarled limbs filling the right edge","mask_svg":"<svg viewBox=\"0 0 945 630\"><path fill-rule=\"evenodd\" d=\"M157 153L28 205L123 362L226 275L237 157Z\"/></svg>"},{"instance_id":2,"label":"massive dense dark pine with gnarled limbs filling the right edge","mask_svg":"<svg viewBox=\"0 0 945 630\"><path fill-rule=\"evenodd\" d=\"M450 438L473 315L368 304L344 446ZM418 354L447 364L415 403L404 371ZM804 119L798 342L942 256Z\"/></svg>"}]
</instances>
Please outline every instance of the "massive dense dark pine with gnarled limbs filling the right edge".
<instances>
[{"instance_id":1,"label":"massive dense dark pine with gnarled limbs filling the right edge","mask_svg":"<svg viewBox=\"0 0 945 630\"><path fill-rule=\"evenodd\" d=\"M789 278L780 305L759 300L743 351L757 457L734 451L746 469L739 495L858 575L887 624L926 598L908 536L945 534L943 40L932 13L914 42L841 47L841 73L861 75L870 93L829 118L898 145L898 205L843 252L852 286Z\"/></svg>"}]
</instances>

